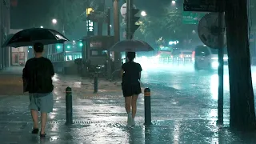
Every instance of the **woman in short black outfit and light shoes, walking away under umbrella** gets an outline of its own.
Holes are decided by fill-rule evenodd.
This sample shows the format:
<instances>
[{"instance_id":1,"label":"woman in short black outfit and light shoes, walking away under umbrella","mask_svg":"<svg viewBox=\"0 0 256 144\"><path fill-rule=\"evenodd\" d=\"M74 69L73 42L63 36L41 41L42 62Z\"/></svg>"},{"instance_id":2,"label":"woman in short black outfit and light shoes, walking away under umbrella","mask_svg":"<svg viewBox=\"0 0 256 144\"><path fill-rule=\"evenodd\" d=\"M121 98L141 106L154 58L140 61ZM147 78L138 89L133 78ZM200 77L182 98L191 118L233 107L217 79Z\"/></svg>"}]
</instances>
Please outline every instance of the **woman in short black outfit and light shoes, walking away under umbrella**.
<instances>
[{"instance_id":1,"label":"woman in short black outfit and light shoes, walking away under umbrella","mask_svg":"<svg viewBox=\"0 0 256 144\"><path fill-rule=\"evenodd\" d=\"M122 65L122 94L126 99L128 125L135 125L134 118L137 110L138 94L142 93L140 86L142 66L134 62L135 52L127 53L128 62ZM132 113L130 113L130 106Z\"/></svg>"}]
</instances>

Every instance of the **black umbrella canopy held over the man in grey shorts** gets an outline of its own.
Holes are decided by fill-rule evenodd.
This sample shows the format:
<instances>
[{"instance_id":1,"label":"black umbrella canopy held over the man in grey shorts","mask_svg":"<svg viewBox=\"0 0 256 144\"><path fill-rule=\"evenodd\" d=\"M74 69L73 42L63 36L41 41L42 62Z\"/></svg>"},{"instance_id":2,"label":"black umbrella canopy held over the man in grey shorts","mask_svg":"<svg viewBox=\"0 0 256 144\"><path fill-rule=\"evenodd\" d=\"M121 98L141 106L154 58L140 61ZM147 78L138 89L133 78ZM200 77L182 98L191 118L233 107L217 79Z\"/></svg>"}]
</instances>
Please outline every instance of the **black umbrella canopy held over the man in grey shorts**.
<instances>
[{"instance_id":1,"label":"black umbrella canopy held over the man in grey shorts","mask_svg":"<svg viewBox=\"0 0 256 144\"><path fill-rule=\"evenodd\" d=\"M43 45L50 45L54 43L63 43L66 41L69 40L56 30L32 28L19 31L8 38L2 46L33 46L36 42L41 42Z\"/></svg>"}]
</instances>

